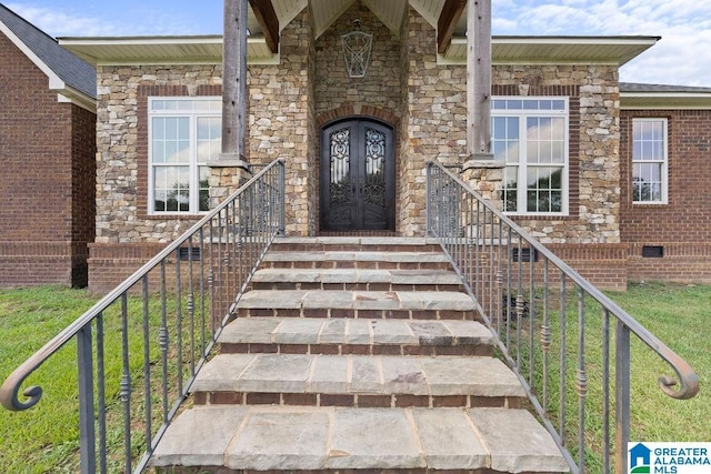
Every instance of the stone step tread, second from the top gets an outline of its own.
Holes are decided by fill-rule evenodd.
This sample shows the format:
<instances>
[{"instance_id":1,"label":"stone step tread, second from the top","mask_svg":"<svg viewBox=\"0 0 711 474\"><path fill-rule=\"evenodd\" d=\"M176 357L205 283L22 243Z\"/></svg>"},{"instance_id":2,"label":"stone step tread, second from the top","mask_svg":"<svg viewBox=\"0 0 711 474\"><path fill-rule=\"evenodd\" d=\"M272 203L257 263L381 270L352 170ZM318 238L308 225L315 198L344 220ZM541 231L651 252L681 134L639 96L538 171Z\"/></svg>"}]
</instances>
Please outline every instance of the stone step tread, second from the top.
<instances>
[{"instance_id":1,"label":"stone step tread, second from the top","mask_svg":"<svg viewBox=\"0 0 711 474\"><path fill-rule=\"evenodd\" d=\"M444 253L434 252L387 252L387 251L279 251L273 250L264 255L266 262L392 262L392 263L441 263L449 262Z\"/></svg>"}]
</instances>

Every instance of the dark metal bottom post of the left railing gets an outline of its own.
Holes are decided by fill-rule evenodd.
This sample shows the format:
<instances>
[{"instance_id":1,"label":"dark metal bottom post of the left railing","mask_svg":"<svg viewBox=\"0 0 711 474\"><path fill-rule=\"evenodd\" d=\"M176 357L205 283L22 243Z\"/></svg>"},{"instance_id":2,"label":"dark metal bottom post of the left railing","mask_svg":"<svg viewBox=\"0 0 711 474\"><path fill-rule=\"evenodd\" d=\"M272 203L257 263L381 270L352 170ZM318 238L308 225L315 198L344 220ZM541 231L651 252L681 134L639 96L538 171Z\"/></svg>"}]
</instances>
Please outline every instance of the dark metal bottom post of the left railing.
<instances>
[{"instance_id":1,"label":"dark metal bottom post of the left railing","mask_svg":"<svg viewBox=\"0 0 711 474\"><path fill-rule=\"evenodd\" d=\"M97 472L97 448L93 414L93 360L91 324L77 333L79 371L79 458L82 474Z\"/></svg>"}]
</instances>

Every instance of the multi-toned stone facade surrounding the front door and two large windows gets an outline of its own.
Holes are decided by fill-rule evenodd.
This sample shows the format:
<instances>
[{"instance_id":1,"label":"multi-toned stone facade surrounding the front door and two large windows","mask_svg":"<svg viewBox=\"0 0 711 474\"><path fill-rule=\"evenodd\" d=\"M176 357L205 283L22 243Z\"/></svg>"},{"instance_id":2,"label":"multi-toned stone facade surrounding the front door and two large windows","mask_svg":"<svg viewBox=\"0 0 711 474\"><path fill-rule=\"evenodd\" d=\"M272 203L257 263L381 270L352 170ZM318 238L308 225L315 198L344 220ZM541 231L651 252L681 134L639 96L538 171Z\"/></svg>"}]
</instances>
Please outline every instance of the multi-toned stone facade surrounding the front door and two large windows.
<instances>
[{"instance_id":1,"label":"multi-toned stone facade surrounding the front door and two large windows","mask_svg":"<svg viewBox=\"0 0 711 474\"><path fill-rule=\"evenodd\" d=\"M467 159L467 71L437 64L435 31L409 8L400 39L367 11L364 26L373 27L375 49L367 77L351 80L338 40L353 14L349 10L314 42L306 9L282 31L280 64L250 64L248 159L254 164L286 159L287 233L313 234L319 125L348 114L384 119L400 137L398 231L424 235L424 162ZM168 242L192 223L147 215L147 98L219 95L220 75L220 65L99 68L97 262L108 256L102 245L118 261L132 261L131 246ZM619 243L617 68L495 65L493 82L495 95L571 98L570 215L517 220L548 243Z\"/></svg>"}]
</instances>

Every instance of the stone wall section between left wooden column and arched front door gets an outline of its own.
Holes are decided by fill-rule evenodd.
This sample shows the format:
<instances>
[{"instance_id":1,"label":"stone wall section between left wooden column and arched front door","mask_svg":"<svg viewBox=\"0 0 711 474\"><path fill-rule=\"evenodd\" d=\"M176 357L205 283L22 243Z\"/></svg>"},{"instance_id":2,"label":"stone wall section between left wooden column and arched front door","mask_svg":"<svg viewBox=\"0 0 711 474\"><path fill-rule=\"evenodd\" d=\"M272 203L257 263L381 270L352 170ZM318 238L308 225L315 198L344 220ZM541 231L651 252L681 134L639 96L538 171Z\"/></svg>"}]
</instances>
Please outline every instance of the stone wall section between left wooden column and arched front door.
<instances>
[{"instance_id":1,"label":"stone wall section between left wooden column and arched front door","mask_svg":"<svg viewBox=\"0 0 711 474\"><path fill-rule=\"evenodd\" d=\"M313 27L304 9L281 32L280 64L249 67L251 163L286 159L288 235L316 232L318 205Z\"/></svg>"}]
</instances>

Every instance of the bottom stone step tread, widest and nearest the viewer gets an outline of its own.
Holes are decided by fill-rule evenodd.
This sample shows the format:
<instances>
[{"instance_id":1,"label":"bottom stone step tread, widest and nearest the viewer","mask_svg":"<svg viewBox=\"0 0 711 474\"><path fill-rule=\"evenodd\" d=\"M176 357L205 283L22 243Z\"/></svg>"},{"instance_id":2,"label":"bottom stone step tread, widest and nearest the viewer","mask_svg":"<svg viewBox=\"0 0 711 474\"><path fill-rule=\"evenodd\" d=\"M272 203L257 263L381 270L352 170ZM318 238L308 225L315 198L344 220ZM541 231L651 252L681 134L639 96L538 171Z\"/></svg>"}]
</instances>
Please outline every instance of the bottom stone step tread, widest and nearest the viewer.
<instances>
[{"instance_id":1,"label":"bottom stone step tread, widest and nearest the viewer","mask_svg":"<svg viewBox=\"0 0 711 474\"><path fill-rule=\"evenodd\" d=\"M524 410L201 406L168 427L153 466L569 472Z\"/></svg>"}]
</instances>

